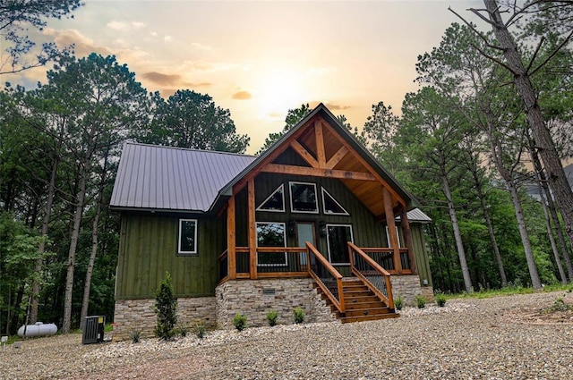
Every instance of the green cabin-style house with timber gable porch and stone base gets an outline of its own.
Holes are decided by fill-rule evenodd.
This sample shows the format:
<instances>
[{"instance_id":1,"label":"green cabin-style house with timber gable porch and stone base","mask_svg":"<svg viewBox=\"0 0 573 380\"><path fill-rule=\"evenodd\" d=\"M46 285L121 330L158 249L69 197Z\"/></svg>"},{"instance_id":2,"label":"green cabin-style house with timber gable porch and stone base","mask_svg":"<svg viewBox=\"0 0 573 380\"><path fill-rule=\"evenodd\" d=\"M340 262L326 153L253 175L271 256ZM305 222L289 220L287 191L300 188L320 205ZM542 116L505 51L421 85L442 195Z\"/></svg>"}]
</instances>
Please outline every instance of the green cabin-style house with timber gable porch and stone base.
<instances>
[{"instance_id":1,"label":"green cabin-style house with timber gable porch and stone base","mask_svg":"<svg viewBox=\"0 0 573 380\"><path fill-rule=\"evenodd\" d=\"M317 106L261 156L126 143L111 198L121 212L115 336L152 334L172 276L183 323L264 325L398 317L394 298L432 296L430 219Z\"/></svg>"}]
</instances>

